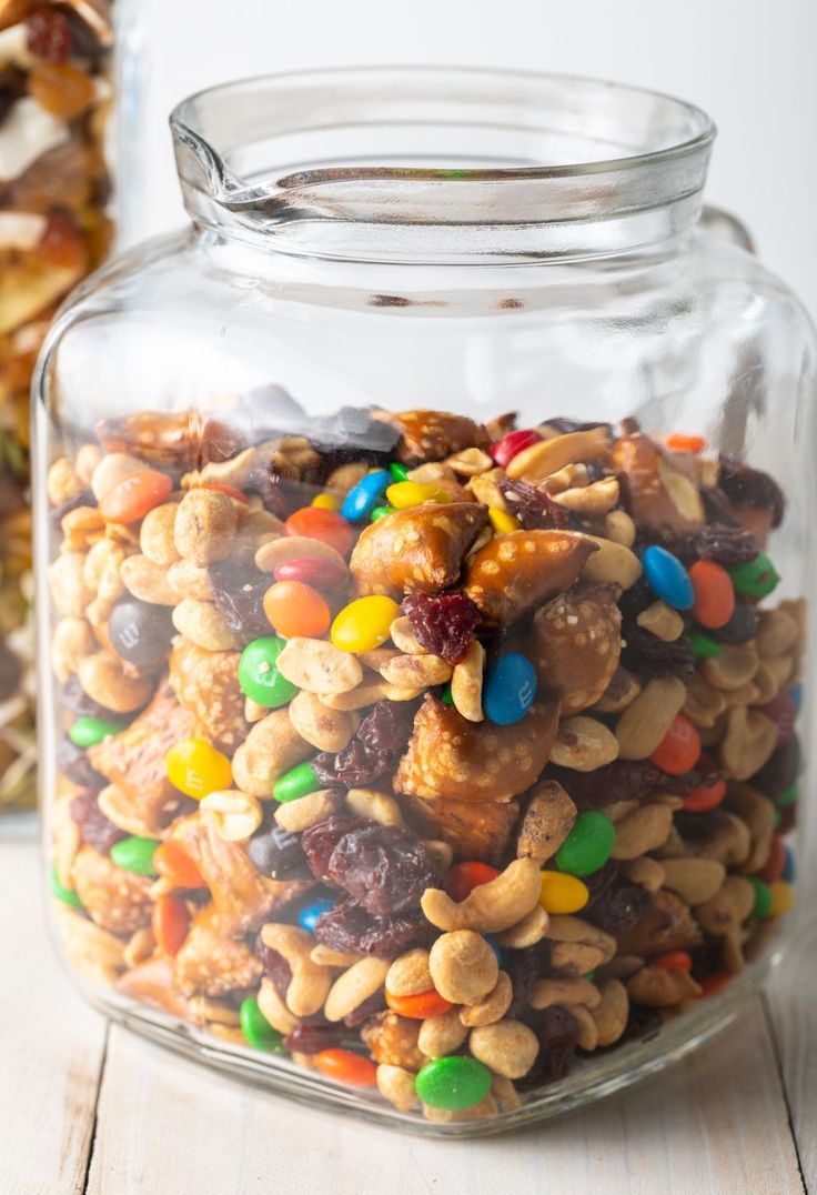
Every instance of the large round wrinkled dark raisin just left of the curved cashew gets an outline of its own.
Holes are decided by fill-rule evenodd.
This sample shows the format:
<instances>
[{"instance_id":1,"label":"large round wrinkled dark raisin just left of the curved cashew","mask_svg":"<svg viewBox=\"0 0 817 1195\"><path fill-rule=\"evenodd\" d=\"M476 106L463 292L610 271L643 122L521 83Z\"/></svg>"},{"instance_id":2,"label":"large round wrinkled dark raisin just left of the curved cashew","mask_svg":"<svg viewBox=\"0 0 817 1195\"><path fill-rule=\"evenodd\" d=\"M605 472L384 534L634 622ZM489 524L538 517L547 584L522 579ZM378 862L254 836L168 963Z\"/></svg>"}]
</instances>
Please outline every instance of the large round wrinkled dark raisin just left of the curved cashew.
<instances>
[{"instance_id":1,"label":"large round wrinkled dark raisin just left of the curved cashew","mask_svg":"<svg viewBox=\"0 0 817 1195\"><path fill-rule=\"evenodd\" d=\"M419 905L437 880L422 841L400 826L362 826L332 851L328 878L375 917Z\"/></svg>"}]
</instances>

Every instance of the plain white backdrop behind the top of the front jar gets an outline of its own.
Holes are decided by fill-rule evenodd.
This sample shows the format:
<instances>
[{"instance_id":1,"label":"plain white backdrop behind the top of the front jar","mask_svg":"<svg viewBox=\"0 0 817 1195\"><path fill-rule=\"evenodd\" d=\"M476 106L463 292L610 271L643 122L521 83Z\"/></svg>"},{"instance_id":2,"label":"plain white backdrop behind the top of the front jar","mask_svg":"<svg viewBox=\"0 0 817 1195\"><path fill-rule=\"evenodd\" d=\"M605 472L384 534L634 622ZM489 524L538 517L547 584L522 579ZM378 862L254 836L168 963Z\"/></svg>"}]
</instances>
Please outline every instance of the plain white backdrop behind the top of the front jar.
<instances>
[{"instance_id":1,"label":"plain white backdrop behind the top of the front jar","mask_svg":"<svg viewBox=\"0 0 817 1195\"><path fill-rule=\"evenodd\" d=\"M139 234L182 219L166 117L266 71L455 63L674 92L719 127L710 202L817 314L817 0L131 0L141 13Z\"/></svg>"}]
</instances>

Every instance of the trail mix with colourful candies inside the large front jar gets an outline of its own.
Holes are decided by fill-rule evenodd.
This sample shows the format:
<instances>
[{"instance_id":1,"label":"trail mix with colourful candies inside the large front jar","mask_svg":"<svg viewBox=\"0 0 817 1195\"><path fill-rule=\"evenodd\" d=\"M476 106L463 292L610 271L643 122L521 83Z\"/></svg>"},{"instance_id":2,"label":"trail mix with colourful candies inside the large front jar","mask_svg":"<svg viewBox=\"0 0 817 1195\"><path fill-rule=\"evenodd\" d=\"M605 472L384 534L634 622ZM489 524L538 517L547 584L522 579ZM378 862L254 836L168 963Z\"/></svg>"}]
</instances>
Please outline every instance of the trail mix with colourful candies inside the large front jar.
<instances>
[{"instance_id":1,"label":"trail mix with colourful candies inside the large front jar","mask_svg":"<svg viewBox=\"0 0 817 1195\"><path fill-rule=\"evenodd\" d=\"M228 1048L493 1116L792 905L784 496L634 421L299 422L105 419L51 466L64 951Z\"/></svg>"}]
</instances>

